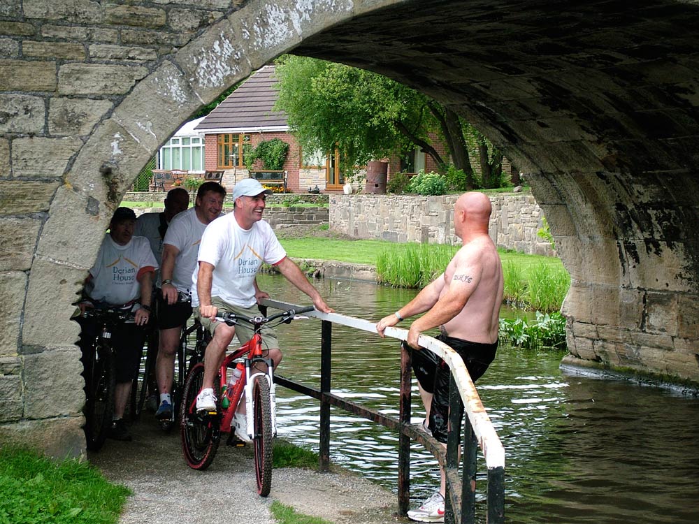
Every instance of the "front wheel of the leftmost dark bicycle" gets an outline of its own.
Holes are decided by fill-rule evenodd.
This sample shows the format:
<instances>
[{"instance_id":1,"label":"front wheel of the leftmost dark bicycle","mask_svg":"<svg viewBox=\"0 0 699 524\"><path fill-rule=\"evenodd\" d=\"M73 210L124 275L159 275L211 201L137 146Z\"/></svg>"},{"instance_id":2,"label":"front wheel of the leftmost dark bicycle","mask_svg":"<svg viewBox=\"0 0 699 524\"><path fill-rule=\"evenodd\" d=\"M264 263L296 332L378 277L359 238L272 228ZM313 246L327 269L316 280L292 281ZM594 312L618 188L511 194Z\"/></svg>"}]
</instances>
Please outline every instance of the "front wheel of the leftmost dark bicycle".
<instances>
[{"instance_id":1,"label":"front wheel of the leftmost dark bicycle","mask_svg":"<svg viewBox=\"0 0 699 524\"><path fill-rule=\"evenodd\" d=\"M87 449L99 451L107 438L114 412L116 370L112 349L98 346L83 371L85 402L85 441Z\"/></svg>"}]
</instances>

